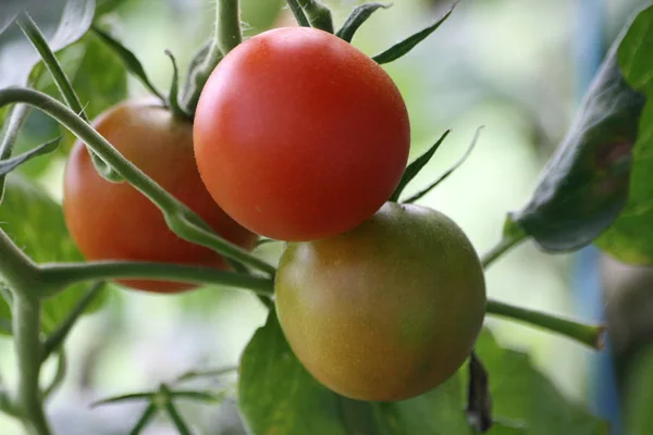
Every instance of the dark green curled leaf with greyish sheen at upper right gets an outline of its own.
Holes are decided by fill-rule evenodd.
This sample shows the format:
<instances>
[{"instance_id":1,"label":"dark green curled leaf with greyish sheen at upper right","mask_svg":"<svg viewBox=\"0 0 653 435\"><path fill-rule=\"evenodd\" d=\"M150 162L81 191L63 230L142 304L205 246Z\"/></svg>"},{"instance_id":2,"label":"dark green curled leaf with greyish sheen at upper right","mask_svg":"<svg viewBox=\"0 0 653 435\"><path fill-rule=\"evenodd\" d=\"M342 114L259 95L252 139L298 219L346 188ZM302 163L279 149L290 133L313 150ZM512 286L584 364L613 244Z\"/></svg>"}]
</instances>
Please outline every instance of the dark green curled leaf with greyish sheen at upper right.
<instances>
[{"instance_id":1,"label":"dark green curled leaf with greyish sheen at upper right","mask_svg":"<svg viewBox=\"0 0 653 435\"><path fill-rule=\"evenodd\" d=\"M638 138L639 148L649 141L648 132L638 133L645 99L621 75L619 45L608 52L530 202L508 216L547 251L582 248L613 224L628 198L632 147Z\"/></svg>"}]
</instances>

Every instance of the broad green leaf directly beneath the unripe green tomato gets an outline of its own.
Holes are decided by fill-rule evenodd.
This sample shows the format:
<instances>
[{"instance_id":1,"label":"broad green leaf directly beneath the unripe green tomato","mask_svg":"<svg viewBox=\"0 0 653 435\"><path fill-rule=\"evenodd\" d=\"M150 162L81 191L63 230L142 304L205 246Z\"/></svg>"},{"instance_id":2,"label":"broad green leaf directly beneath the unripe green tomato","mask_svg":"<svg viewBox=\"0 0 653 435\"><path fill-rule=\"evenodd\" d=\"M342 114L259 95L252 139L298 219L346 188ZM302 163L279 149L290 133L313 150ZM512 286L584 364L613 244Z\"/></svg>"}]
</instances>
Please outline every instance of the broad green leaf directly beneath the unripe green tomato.
<instances>
[{"instance_id":1,"label":"broad green leaf directly beneath the unripe green tomato","mask_svg":"<svg viewBox=\"0 0 653 435\"><path fill-rule=\"evenodd\" d=\"M458 376L414 399L350 400L315 381L271 312L241 361L241 410L256 435L471 435Z\"/></svg>"}]
</instances>

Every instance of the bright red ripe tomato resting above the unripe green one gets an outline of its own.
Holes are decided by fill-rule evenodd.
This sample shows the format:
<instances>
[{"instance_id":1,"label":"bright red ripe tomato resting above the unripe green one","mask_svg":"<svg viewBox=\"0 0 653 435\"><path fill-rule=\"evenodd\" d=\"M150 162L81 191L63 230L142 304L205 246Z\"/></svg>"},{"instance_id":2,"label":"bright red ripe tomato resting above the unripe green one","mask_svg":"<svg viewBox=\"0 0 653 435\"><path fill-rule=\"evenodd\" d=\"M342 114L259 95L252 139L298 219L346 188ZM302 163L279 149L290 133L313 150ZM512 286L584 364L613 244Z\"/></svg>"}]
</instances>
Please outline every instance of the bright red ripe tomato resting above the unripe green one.
<instances>
[{"instance_id":1,"label":"bright red ripe tomato resting above the unripe green one","mask_svg":"<svg viewBox=\"0 0 653 435\"><path fill-rule=\"evenodd\" d=\"M227 214L301 241L379 210L406 166L410 125L399 90L369 57L329 33L284 27L220 62L194 137L201 177Z\"/></svg>"}]
</instances>

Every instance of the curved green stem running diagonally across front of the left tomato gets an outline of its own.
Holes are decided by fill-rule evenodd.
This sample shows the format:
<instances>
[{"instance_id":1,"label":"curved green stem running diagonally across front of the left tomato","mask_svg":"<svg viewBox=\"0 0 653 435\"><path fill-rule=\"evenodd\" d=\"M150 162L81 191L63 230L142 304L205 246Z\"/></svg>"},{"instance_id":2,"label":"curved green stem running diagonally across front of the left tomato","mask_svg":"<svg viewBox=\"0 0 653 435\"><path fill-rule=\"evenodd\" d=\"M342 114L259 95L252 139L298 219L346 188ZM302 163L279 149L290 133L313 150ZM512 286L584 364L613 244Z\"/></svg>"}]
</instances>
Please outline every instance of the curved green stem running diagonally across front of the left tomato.
<instances>
[{"instance_id":1,"label":"curved green stem running diagonally across front of the left tomato","mask_svg":"<svg viewBox=\"0 0 653 435\"><path fill-rule=\"evenodd\" d=\"M120 176L149 198L163 212L168 225L181 238L210 248L259 271L274 274L274 266L207 229L209 226L197 214L126 160L107 139L61 102L33 89L8 88L0 90L0 107L12 102L34 105L65 125Z\"/></svg>"}]
</instances>

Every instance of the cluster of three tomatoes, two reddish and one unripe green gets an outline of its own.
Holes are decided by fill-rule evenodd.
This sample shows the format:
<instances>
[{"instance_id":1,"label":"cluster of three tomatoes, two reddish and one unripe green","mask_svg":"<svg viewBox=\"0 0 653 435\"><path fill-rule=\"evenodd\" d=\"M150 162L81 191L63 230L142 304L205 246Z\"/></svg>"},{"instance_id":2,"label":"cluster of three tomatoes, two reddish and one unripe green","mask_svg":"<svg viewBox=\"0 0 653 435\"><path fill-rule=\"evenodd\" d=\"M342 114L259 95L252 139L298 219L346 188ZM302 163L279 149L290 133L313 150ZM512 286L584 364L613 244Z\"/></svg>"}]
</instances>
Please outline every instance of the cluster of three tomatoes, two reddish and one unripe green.
<instances>
[{"instance_id":1,"label":"cluster of three tomatoes, two reddish and one unripe green","mask_svg":"<svg viewBox=\"0 0 653 435\"><path fill-rule=\"evenodd\" d=\"M331 389L412 397L469 355L485 304L479 259L448 217L386 202L408 159L408 114L390 76L348 42L307 27L260 34L219 63L193 123L127 101L95 127L225 239L246 250L259 235L291 241L278 315L298 359ZM82 142L64 211L88 259L229 268L176 237L134 187L100 177Z\"/></svg>"}]
</instances>

